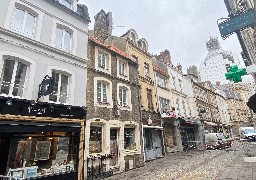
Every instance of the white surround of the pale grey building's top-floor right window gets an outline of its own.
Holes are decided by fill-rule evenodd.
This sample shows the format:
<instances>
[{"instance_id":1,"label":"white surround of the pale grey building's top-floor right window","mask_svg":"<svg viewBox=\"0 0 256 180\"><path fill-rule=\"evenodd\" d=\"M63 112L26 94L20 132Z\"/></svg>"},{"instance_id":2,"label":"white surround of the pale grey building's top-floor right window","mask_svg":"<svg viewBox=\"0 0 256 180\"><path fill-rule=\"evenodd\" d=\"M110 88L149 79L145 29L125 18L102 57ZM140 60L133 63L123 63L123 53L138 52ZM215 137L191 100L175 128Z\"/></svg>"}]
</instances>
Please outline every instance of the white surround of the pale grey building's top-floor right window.
<instances>
[{"instance_id":1,"label":"white surround of the pale grey building's top-floor right window","mask_svg":"<svg viewBox=\"0 0 256 180\"><path fill-rule=\"evenodd\" d=\"M55 45L57 27L63 28L63 29L65 29L65 30L67 30L68 32L71 33L70 51L69 52L67 52L63 49L59 49ZM61 50L61 51L65 52L65 53L70 53L70 54L76 55L77 54L77 52L76 52L76 50L77 50L77 30L73 27L70 27L67 24L64 24L63 22L61 22L57 19L53 19L52 35L51 35L51 46L58 49L58 50Z\"/></svg>"}]
</instances>

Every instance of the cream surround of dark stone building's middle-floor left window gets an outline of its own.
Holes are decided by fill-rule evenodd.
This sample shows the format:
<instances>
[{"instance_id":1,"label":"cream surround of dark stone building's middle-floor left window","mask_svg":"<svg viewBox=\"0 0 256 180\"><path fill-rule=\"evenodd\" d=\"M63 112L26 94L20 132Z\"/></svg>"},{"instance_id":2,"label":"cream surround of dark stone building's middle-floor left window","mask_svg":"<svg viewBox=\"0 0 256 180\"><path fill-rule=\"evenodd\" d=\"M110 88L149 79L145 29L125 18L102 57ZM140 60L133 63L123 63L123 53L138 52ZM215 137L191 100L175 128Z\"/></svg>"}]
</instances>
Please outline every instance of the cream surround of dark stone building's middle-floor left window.
<instances>
[{"instance_id":1,"label":"cream surround of dark stone building's middle-floor left window","mask_svg":"<svg viewBox=\"0 0 256 180\"><path fill-rule=\"evenodd\" d=\"M101 104L98 103L98 96L97 96L97 84L98 82L105 83L107 85L106 87L106 95L107 95L107 102L108 104ZM94 106L97 107L107 107L107 108L113 108L113 99L112 99L112 82L106 78L103 77L94 77Z\"/></svg>"}]
</instances>

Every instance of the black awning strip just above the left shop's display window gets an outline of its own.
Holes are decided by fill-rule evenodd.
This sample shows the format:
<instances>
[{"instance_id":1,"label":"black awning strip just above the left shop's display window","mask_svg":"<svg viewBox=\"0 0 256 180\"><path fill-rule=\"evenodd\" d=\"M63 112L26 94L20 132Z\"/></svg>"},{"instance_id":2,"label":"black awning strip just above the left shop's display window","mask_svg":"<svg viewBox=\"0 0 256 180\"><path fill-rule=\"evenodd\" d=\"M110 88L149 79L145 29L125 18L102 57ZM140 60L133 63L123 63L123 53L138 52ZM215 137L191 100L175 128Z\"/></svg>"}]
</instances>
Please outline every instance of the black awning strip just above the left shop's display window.
<instances>
[{"instance_id":1,"label":"black awning strip just above the left shop's display window","mask_svg":"<svg viewBox=\"0 0 256 180\"><path fill-rule=\"evenodd\" d=\"M44 123L24 121L0 121L1 132L76 132L81 130L79 123Z\"/></svg>"}]
</instances>

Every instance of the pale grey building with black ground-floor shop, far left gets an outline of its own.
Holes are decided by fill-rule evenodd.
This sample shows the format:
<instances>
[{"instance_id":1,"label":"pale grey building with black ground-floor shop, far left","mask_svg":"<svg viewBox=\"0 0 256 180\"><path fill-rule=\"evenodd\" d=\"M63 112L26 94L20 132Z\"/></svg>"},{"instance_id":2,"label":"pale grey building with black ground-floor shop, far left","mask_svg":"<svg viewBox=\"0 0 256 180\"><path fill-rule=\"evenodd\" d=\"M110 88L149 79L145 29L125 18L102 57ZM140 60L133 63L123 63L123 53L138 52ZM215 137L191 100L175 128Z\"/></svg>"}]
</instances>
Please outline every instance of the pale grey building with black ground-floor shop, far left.
<instances>
[{"instance_id":1,"label":"pale grey building with black ground-floor shop, far left","mask_svg":"<svg viewBox=\"0 0 256 180\"><path fill-rule=\"evenodd\" d=\"M82 179L87 7L4 0L0 9L0 174Z\"/></svg>"}]
</instances>

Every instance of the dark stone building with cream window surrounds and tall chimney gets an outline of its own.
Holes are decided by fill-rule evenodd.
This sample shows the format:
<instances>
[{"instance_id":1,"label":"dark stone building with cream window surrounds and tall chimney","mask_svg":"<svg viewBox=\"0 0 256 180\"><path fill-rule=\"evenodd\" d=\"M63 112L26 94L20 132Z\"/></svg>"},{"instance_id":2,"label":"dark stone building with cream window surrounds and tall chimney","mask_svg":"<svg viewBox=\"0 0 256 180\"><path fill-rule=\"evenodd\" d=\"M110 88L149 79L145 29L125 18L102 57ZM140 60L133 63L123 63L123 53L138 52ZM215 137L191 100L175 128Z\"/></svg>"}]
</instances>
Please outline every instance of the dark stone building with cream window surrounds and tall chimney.
<instances>
[{"instance_id":1,"label":"dark stone building with cream window surrounds and tall chimney","mask_svg":"<svg viewBox=\"0 0 256 180\"><path fill-rule=\"evenodd\" d=\"M111 12L95 16L88 43L85 156L88 178L144 165L138 61L111 42ZM99 165L100 162L103 164ZM104 174L104 173L103 173Z\"/></svg>"}]
</instances>

